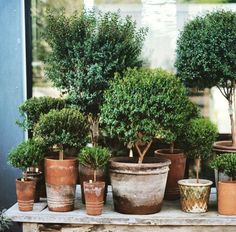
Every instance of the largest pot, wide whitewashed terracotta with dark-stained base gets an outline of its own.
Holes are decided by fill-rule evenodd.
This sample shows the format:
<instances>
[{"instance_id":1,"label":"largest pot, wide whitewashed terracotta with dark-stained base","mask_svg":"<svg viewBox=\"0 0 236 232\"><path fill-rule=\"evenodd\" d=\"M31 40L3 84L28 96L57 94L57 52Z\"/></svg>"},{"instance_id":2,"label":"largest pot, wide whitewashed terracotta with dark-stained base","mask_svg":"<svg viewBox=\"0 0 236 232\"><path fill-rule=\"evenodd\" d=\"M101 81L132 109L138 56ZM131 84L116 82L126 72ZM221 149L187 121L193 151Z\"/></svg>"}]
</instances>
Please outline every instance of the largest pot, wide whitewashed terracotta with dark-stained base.
<instances>
[{"instance_id":1,"label":"largest pot, wide whitewashed terracotta with dark-stained base","mask_svg":"<svg viewBox=\"0 0 236 232\"><path fill-rule=\"evenodd\" d=\"M116 157L110 160L115 211L152 214L161 210L170 161L159 157Z\"/></svg>"}]
</instances>

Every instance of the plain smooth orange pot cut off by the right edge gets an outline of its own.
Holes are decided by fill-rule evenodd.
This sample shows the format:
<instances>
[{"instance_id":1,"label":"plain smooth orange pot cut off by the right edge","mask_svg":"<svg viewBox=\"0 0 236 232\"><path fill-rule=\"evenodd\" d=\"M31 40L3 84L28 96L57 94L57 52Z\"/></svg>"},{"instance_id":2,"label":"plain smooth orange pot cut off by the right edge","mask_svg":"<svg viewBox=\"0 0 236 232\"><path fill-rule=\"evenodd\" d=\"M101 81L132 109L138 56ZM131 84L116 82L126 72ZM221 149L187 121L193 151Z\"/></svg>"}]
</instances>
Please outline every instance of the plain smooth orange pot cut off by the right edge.
<instances>
[{"instance_id":1,"label":"plain smooth orange pot cut off by the right edge","mask_svg":"<svg viewBox=\"0 0 236 232\"><path fill-rule=\"evenodd\" d=\"M218 212L236 215L236 181L218 182Z\"/></svg>"}]
</instances>

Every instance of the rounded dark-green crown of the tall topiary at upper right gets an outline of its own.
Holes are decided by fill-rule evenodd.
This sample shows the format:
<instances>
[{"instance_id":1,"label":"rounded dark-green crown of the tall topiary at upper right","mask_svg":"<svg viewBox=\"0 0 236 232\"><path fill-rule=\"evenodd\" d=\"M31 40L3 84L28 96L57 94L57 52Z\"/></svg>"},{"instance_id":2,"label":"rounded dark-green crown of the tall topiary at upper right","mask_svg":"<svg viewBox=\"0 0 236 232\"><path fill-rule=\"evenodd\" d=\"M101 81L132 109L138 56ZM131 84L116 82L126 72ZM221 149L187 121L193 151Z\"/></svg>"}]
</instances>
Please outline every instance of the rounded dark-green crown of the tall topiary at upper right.
<instances>
[{"instance_id":1,"label":"rounded dark-green crown of the tall topiary at upper right","mask_svg":"<svg viewBox=\"0 0 236 232\"><path fill-rule=\"evenodd\" d=\"M189 87L231 88L236 80L236 13L219 10L188 22L177 41L175 65Z\"/></svg>"}]
</instances>

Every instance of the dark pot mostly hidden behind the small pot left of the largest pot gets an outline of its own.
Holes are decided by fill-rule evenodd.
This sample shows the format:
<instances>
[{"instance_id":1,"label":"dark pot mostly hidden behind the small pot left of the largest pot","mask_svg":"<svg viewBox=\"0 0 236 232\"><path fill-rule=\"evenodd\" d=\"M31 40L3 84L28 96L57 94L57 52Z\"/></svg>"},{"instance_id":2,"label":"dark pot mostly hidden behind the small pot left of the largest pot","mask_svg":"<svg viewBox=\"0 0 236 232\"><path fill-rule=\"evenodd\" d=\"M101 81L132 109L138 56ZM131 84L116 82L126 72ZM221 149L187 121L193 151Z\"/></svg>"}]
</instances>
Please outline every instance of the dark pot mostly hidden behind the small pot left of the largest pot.
<instances>
[{"instance_id":1,"label":"dark pot mostly hidden behind the small pot left of the largest pot","mask_svg":"<svg viewBox=\"0 0 236 232\"><path fill-rule=\"evenodd\" d=\"M79 165L79 182L81 187L81 198L82 203L85 204L85 197L84 197L84 181L93 180L93 169L89 167L85 167L83 165ZM107 196L107 175L106 172L102 169L97 169L97 181L105 182L105 192L104 192L104 202L106 202Z\"/></svg>"}]
</instances>

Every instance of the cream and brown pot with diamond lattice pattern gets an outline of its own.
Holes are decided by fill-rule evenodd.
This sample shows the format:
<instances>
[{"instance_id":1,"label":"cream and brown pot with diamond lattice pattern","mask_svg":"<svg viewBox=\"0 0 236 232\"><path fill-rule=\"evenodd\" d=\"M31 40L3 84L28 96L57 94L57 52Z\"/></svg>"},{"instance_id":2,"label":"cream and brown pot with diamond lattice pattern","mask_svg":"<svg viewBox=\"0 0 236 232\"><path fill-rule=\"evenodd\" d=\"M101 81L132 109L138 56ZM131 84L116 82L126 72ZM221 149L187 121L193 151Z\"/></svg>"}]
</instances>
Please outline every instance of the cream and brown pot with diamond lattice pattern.
<instances>
[{"instance_id":1,"label":"cream and brown pot with diamond lattice pattern","mask_svg":"<svg viewBox=\"0 0 236 232\"><path fill-rule=\"evenodd\" d=\"M187 213L205 213L208 210L208 203L211 192L212 181L199 179L179 180L180 205Z\"/></svg>"}]
</instances>

